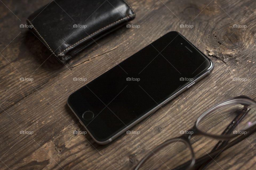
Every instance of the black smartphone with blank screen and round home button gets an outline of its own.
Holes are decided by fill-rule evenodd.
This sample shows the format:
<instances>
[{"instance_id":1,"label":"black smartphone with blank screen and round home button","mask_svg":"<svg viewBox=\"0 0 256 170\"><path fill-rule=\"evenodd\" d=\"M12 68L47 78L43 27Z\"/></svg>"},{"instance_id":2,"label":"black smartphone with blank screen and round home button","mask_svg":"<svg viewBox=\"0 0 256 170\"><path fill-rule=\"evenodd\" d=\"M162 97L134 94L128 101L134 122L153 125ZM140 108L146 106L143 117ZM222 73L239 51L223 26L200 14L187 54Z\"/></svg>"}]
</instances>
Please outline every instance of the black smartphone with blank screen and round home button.
<instances>
[{"instance_id":1,"label":"black smartphone with blank screen and round home button","mask_svg":"<svg viewBox=\"0 0 256 170\"><path fill-rule=\"evenodd\" d=\"M213 62L173 31L73 92L67 104L91 137L105 145L212 70Z\"/></svg>"}]
</instances>

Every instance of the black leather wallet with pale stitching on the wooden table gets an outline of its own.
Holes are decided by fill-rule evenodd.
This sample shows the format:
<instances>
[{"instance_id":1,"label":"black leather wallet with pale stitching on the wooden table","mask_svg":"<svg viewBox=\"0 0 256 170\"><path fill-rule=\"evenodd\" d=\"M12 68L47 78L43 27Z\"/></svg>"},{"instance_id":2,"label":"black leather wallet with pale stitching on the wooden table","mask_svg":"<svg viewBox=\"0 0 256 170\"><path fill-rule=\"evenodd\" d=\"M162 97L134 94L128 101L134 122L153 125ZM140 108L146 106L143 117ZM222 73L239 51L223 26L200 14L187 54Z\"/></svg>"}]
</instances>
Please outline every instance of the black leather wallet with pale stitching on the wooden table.
<instances>
[{"instance_id":1,"label":"black leather wallet with pale stitching on the wooden table","mask_svg":"<svg viewBox=\"0 0 256 170\"><path fill-rule=\"evenodd\" d=\"M135 18L125 0L55 0L31 14L32 30L62 62Z\"/></svg>"}]
</instances>

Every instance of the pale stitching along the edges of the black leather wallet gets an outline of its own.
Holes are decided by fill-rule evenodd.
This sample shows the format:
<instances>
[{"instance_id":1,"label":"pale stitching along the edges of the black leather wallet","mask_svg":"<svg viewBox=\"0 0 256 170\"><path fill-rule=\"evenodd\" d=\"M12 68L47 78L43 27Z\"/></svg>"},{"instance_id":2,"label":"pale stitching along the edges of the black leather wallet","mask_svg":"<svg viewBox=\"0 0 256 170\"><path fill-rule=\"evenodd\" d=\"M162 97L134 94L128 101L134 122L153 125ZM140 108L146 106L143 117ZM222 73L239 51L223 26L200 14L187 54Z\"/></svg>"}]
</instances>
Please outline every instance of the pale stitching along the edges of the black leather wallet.
<instances>
[{"instance_id":1,"label":"pale stitching along the edges of the black leather wallet","mask_svg":"<svg viewBox=\"0 0 256 170\"><path fill-rule=\"evenodd\" d=\"M45 39L43 39L43 37L41 36L41 34L40 34L40 33L37 31L37 29L34 27L34 25L32 24L32 22L31 22L29 19L27 19L27 21L28 21L31 25L33 25L33 28L34 28L35 31L38 33L38 35L42 38L42 40L45 42L45 44L49 47L49 50L50 50L56 57L58 57L59 55L64 54L64 52L65 52L66 50L72 48L73 46L77 45L77 44L80 43L81 41L87 39L88 37L90 37L90 36L96 34L97 32L101 31L102 29L105 29L105 28L107 28L107 27L110 27L110 26L112 26L112 25L114 25L114 24L116 24L116 23L122 21L122 20L125 20L125 19L128 19L128 18L131 18L132 16L135 16L135 12L134 12L133 8L129 5L129 3L126 2L126 0L123 0L123 1L124 1L124 2L126 3L126 5L128 5L129 8L131 8L131 10L133 11L133 14L132 14L132 15L126 16L126 17L124 17L124 18L122 18L122 19L119 19L118 21L115 21L115 22L112 23L112 24L109 24L109 25L107 25L107 26L105 26L105 27L99 29L98 31L92 33L91 35L89 35L89 36L87 36L87 37L85 37L85 38L83 38L82 40L78 41L77 43L75 43L75 44L73 44L73 45L67 47L63 52L59 53L58 55L56 55L56 54L53 52L53 50L52 50L52 49L50 48L50 46L47 44L47 42L45 41Z\"/></svg>"}]
</instances>

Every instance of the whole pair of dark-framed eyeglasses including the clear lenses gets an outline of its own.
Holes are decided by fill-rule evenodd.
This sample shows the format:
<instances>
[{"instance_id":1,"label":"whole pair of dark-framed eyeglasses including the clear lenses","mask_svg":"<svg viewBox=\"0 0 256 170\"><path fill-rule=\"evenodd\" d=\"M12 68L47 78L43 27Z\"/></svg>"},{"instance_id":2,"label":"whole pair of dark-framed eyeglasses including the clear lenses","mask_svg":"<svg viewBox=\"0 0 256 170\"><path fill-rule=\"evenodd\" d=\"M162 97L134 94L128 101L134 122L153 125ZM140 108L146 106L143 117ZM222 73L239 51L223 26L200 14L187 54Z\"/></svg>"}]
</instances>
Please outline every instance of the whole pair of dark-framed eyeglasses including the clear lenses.
<instances>
[{"instance_id":1,"label":"whole pair of dark-framed eyeglasses including the clear lenses","mask_svg":"<svg viewBox=\"0 0 256 170\"><path fill-rule=\"evenodd\" d=\"M238 96L214 105L204 112L193 128L181 131L151 150L137 165L138 169L204 169L221 152L256 131L256 101ZM210 153L195 159L190 138L203 135L219 139ZM231 140L232 139L232 140ZM231 141L230 141L231 140Z\"/></svg>"}]
</instances>

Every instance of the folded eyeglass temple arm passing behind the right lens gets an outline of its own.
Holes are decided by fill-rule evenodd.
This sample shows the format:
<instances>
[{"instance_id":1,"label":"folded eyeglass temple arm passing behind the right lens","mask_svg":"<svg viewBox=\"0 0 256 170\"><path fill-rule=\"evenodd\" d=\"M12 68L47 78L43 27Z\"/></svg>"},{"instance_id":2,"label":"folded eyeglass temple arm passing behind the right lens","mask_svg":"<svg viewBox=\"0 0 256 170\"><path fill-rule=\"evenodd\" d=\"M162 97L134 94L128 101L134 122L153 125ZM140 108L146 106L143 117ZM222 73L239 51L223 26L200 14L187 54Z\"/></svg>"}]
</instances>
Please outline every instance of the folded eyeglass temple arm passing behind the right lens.
<instances>
[{"instance_id":1,"label":"folded eyeglass temple arm passing behind the right lens","mask_svg":"<svg viewBox=\"0 0 256 170\"><path fill-rule=\"evenodd\" d=\"M245 117L245 115L249 112L249 110L247 109L247 106L244 106L243 110L241 111L240 114L238 114L233 121L231 121L231 123L227 126L227 128L222 132L221 135L225 135L225 134L230 134L235 127L239 124L239 122ZM234 114L234 113L233 113ZM218 150L218 148L220 147L224 147L225 145L227 145L229 143L229 140L222 140L219 141L214 148L211 150L211 152L214 152L216 150ZM210 153L211 153L210 152ZM207 161L205 163L203 163L200 167L198 167L199 170L201 169L205 169L208 165L210 164L210 161Z\"/></svg>"}]
</instances>

